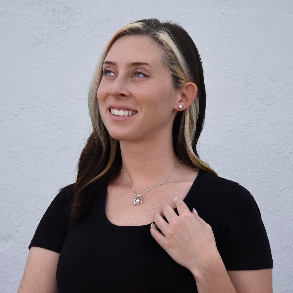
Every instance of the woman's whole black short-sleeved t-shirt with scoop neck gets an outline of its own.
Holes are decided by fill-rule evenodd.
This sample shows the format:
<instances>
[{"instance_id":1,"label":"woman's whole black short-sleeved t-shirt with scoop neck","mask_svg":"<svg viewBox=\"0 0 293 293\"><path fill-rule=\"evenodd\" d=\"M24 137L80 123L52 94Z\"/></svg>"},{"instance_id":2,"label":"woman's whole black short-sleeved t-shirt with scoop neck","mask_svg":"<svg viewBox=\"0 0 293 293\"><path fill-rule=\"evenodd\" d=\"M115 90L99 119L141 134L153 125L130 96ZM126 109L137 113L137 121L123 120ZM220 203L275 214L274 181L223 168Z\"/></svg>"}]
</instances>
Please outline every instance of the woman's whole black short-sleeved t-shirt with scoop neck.
<instances>
[{"instance_id":1,"label":"woman's whole black short-sleeved t-shirt with scoop neck","mask_svg":"<svg viewBox=\"0 0 293 293\"><path fill-rule=\"evenodd\" d=\"M117 289L197 292L192 273L154 240L150 224L117 226L107 219L106 190L105 186L100 188L84 220L70 223L66 210L71 193L67 187L56 195L40 220L28 248L39 246L60 253L56 271L59 293ZM226 270L273 268L260 210L246 188L200 171L183 201L211 225ZM178 215L177 209L174 211Z\"/></svg>"}]
</instances>

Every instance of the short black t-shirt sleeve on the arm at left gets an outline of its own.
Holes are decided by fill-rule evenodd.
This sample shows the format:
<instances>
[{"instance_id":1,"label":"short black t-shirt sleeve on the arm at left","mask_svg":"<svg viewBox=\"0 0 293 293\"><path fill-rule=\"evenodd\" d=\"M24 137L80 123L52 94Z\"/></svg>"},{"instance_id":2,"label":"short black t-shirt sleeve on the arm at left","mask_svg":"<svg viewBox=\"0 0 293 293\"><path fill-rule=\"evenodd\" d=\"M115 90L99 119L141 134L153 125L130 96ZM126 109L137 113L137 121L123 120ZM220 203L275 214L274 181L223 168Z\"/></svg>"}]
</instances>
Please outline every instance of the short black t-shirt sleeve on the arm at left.
<instances>
[{"instance_id":1,"label":"short black t-shirt sleeve on the arm at left","mask_svg":"<svg viewBox=\"0 0 293 293\"><path fill-rule=\"evenodd\" d=\"M62 189L52 200L37 226L28 246L38 246L60 253L69 229L71 205L70 185Z\"/></svg>"}]
</instances>

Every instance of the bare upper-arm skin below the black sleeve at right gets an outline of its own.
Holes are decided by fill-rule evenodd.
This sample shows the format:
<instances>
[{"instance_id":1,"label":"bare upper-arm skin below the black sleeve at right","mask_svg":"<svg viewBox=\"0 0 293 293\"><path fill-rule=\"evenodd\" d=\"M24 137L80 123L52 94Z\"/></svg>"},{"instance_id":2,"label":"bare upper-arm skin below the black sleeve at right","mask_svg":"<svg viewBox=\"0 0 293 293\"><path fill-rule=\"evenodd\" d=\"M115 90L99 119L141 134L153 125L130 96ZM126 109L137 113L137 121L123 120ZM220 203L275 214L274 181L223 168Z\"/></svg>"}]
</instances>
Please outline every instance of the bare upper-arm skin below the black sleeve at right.
<instances>
[{"instance_id":1,"label":"bare upper-arm skin below the black sleeve at right","mask_svg":"<svg viewBox=\"0 0 293 293\"><path fill-rule=\"evenodd\" d=\"M272 268L227 271L237 293L272 293Z\"/></svg>"}]
</instances>

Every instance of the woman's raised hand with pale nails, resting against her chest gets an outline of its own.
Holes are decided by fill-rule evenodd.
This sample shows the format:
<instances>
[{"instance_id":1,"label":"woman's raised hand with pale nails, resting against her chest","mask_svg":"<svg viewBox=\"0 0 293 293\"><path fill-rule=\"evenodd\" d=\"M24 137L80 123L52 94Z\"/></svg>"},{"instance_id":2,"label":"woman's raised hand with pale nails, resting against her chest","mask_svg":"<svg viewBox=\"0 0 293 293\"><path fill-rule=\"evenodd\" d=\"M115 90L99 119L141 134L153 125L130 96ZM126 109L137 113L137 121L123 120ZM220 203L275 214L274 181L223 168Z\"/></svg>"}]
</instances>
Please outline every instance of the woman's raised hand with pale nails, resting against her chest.
<instances>
[{"instance_id":1,"label":"woman's raised hand with pale nails, resting against her chest","mask_svg":"<svg viewBox=\"0 0 293 293\"><path fill-rule=\"evenodd\" d=\"M174 199L179 216L170 205L164 205L163 214L169 223L157 212L151 235L173 260L191 272L212 268L222 260L212 227L194 211L190 212L183 200Z\"/></svg>"}]
</instances>

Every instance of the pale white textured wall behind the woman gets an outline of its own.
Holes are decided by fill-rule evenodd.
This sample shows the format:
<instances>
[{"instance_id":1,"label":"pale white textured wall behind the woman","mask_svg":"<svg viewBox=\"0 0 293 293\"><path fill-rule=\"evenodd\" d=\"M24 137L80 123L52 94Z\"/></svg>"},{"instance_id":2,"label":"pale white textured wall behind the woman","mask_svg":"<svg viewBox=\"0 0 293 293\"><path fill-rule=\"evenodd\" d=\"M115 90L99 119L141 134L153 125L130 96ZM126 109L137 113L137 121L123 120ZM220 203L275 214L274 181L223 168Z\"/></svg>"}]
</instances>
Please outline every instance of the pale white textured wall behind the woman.
<instances>
[{"instance_id":1,"label":"pale white textured wall behind the woman","mask_svg":"<svg viewBox=\"0 0 293 293\"><path fill-rule=\"evenodd\" d=\"M252 193L274 293L292 292L292 1L170 3L0 1L1 292L17 291L40 218L74 182L102 47L151 17L177 21L197 45L207 89L200 156Z\"/></svg>"}]
</instances>

